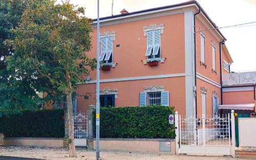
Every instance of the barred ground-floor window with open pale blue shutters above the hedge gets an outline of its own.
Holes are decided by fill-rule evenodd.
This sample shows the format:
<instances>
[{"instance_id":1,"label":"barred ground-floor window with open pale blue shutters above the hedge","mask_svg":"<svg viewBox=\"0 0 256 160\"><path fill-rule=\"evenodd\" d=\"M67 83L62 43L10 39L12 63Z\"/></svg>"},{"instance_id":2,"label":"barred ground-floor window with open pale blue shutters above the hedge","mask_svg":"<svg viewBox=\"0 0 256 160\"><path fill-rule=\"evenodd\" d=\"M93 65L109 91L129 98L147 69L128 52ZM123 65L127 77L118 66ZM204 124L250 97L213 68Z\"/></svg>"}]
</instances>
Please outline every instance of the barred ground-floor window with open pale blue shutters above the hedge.
<instances>
[{"instance_id":1,"label":"barred ground-floor window with open pale blue shutters above the hedge","mask_svg":"<svg viewBox=\"0 0 256 160\"><path fill-rule=\"evenodd\" d=\"M146 100L147 99L147 100ZM169 105L169 92L142 92L140 93L140 106L146 105Z\"/></svg>"}]
</instances>

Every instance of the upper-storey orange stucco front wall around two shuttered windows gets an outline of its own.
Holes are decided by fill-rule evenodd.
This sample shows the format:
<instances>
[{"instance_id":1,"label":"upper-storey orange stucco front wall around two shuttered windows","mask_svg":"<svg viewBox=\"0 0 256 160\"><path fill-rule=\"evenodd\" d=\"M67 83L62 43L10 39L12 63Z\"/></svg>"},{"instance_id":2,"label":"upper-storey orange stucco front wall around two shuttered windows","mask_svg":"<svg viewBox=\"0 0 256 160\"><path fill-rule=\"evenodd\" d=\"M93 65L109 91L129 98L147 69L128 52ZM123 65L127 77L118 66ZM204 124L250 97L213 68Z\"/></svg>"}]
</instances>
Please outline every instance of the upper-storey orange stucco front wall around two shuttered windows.
<instances>
[{"instance_id":1,"label":"upper-storey orange stucco front wall around two shuttered windows","mask_svg":"<svg viewBox=\"0 0 256 160\"><path fill-rule=\"evenodd\" d=\"M146 60L146 37L143 26L164 24L161 35L161 58L164 63L150 67L144 65ZM100 28L100 33L116 32L113 41L113 61L118 63L110 71L100 71L100 79L122 78L146 75L173 74L185 72L184 54L184 14L176 14L152 19L126 22ZM92 33L92 49L87 53L89 57L96 57L96 29ZM120 47L116 47L119 44ZM91 79L96 79L96 71L90 73Z\"/></svg>"}]
</instances>

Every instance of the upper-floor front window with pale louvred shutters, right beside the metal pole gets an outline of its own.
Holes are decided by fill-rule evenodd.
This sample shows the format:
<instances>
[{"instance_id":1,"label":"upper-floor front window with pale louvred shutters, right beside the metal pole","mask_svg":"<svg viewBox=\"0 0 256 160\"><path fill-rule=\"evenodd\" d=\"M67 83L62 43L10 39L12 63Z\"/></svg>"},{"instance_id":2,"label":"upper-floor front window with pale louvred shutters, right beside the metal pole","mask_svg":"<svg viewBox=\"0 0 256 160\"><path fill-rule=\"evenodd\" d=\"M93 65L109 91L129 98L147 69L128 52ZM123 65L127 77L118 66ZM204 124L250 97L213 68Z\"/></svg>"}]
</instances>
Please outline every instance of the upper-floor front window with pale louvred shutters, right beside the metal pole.
<instances>
[{"instance_id":1,"label":"upper-floor front window with pale louvred shutters, right beside the metal pole","mask_svg":"<svg viewBox=\"0 0 256 160\"><path fill-rule=\"evenodd\" d=\"M101 38L101 51L99 60L103 64L109 64L113 62L113 37Z\"/></svg>"}]
</instances>

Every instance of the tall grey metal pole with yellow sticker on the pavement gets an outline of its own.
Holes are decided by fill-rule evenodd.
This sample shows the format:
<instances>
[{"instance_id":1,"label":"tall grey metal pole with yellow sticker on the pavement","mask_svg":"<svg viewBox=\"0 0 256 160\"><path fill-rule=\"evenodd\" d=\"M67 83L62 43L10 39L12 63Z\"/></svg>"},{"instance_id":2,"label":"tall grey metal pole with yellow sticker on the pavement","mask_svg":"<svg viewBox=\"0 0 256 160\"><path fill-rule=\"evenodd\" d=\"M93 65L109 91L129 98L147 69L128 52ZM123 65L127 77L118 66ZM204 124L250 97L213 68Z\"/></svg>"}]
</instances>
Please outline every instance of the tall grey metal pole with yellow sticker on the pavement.
<instances>
[{"instance_id":1,"label":"tall grey metal pole with yellow sticker on the pavement","mask_svg":"<svg viewBox=\"0 0 256 160\"><path fill-rule=\"evenodd\" d=\"M99 155L99 0L97 0L96 159Z\"/></svg>"}]
</instances>

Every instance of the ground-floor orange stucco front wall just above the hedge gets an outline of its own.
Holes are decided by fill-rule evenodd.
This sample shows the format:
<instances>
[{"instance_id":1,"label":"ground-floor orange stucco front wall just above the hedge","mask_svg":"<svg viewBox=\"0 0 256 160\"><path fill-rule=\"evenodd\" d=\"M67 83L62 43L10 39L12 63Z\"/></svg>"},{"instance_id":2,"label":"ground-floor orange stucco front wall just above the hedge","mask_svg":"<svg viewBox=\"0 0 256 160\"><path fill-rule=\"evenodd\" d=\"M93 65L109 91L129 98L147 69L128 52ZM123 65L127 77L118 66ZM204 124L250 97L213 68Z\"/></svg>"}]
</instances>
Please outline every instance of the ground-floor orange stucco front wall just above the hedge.
<instances>
[{"instance_id":1,"label":"ground-floor orange stucco front wall just above the hedge","mask_svg":"<svg viewBox=\"0 0 256 160\"><path fill-rule=\"evenodd\" d=\"M169 77L158 79L143 79L136 81L122 81L100 83L100 90L104 88L118 89L115 106L138 106L139 93L143 92L144 87L164 86L165 91L169 91L169 105L175 106L175 109L185 114L185 77ZM83 96L77 97L77 111L86 111L87 106L96 104L96 85L85 84L80 85L77 89L80 95L89 95L89 99L84 99Z\"/></svg>"}]
</instances>

